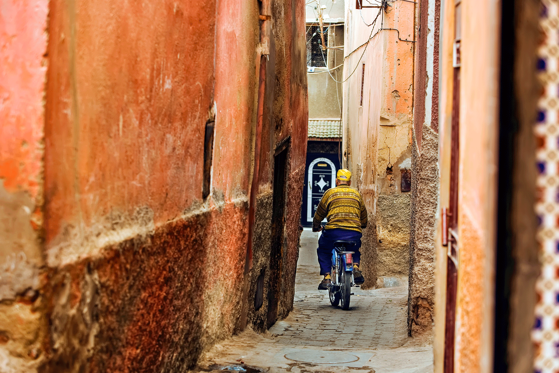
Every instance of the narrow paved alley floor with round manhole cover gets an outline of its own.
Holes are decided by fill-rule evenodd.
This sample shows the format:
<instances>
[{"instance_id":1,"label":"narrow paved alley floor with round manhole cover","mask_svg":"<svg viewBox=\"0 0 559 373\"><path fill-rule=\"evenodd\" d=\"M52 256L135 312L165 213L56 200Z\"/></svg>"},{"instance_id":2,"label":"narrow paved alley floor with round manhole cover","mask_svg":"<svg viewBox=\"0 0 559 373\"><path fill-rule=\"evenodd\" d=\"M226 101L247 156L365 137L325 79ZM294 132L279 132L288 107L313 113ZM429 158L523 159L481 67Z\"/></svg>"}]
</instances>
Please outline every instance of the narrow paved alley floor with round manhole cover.
<instances>
[{"instance_id":1,"label":"narrow paved alley floor with round manhole cover","mask_svg":"<svg viewBox=\"0 0 559 373\"><path fill-rule=\"evenodd\" d=\"M406 329L407 287L355 288L351 307L333 307L316 262L318 234L301 236L293 311L266 334L252 330L206 353L202 370L234 370L237 365L269 372L431 373L428 342L410 342ZM235 365L235 366L231 366Z\"/></svg>"}]
</instances>

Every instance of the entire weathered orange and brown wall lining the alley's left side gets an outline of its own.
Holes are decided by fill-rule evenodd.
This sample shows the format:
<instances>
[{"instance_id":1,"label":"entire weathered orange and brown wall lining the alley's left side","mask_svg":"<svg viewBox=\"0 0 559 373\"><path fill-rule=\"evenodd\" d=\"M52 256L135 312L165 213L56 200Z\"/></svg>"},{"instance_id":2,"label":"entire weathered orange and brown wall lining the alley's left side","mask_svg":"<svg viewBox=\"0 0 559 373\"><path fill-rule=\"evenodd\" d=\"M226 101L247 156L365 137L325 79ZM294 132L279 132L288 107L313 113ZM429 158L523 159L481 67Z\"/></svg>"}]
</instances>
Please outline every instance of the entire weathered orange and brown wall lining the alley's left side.
<instances>
[{"instance_id":1,"label":"entire weathered orange and brown wall lining the alley's left side","mask_svg":"<svg viewBox=\"0 0 559 373\"><path fill-rule=\"evenodd\" d=\"M307 135L304 2L272 2L278 63L266 82L268 121L257 154L264 166L253 186L262 245L248 273L259 4L10 5L3 16L13 25L3 25L25 30L12 46L33 50L4 48L13 30L0 35L3 61L29 70L10 82L19 96L1 86L19 100L0 109L1 130L23 131L2 136L0 147L0 232L17 233L0 238L9 241L2 265L14 268L0 280L0 365L7 372L187 371L247 318L258 324L250 315L253 286L243 303L245 279L258 277L266 254L270 260L273 159L287 141L277 284L277 317L285 317ZM204 196L207 122L215 132Z\"/></svg>"}]
</instances>

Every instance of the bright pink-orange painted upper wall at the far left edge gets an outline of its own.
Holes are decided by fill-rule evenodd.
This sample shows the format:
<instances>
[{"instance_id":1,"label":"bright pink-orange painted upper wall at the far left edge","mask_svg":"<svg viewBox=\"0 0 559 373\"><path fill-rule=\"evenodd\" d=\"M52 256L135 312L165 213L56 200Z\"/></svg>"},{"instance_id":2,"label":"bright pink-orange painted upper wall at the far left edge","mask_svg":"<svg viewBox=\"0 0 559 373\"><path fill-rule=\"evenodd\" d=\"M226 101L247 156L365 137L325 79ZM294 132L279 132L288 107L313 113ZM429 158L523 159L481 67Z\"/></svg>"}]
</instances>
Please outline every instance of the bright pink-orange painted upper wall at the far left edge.
<instances>
[{"instance_id":1,"label":"bright pink-orange painted upper wall at the far left edge","mask_svg":"<svg viewBox=\"0 0 559 373\"><path fill-rule=\"evenodd\" d=\"M33 199L42 186L48 3L8 0L0 12L0 178Z\"/></svg>"}]
</instances>

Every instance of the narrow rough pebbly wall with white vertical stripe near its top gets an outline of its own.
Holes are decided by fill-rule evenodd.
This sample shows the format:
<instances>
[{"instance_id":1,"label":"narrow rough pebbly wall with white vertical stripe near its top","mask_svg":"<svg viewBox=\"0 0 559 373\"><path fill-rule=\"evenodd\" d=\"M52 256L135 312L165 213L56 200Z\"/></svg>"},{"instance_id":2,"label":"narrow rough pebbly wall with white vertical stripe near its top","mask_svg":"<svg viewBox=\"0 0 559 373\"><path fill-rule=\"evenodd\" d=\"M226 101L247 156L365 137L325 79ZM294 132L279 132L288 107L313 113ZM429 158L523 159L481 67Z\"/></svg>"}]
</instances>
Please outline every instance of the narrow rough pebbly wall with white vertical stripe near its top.
<instances>
[{"instance_id":1,"label":"narrow rough pebbly wall with white vertical stripe near its top","mask_svg":"<svg viewBox=\"0 0 559 373\"><path fill-rule=\"evenodd\" d=\"M439 207L439 16L439 0L421 0L421 7L415 15L418 43L411 152L408 333L411 337L425 338L433 335L435 306L435 229ZM419 32L419 29L428 31ZM443 259L446 263L446 256L439 258Z\"/></svg>"}]
</instances>

